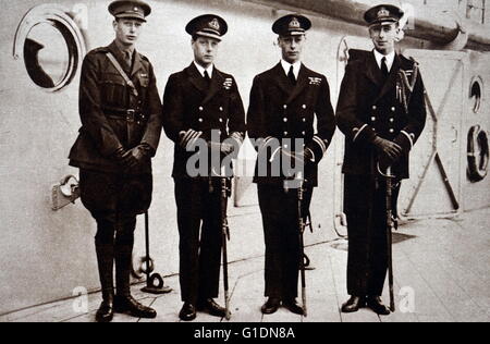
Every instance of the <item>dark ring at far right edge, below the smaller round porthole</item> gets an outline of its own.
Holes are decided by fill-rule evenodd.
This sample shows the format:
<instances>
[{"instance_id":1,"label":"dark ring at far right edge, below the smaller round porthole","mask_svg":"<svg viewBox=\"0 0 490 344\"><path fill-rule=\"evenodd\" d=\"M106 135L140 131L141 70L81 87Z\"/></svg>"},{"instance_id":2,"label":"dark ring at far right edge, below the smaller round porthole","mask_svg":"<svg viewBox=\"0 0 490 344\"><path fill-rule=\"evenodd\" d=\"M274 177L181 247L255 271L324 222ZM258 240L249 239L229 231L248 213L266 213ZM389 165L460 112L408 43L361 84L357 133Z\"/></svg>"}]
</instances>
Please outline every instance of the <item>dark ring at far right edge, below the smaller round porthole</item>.
<instances>
[{"instance_id":1,"label":"dark ring at far right edge, below the smaller round porthole","mask_svg":"<svg viewBox=\"0 0 490 344\"><path fill-rule=\"evenodd\" d=\"M487 132L475 125L468 133L468 179L473 183L485 180L488 174L489 144Z\"/></svg>"}]
</instances>

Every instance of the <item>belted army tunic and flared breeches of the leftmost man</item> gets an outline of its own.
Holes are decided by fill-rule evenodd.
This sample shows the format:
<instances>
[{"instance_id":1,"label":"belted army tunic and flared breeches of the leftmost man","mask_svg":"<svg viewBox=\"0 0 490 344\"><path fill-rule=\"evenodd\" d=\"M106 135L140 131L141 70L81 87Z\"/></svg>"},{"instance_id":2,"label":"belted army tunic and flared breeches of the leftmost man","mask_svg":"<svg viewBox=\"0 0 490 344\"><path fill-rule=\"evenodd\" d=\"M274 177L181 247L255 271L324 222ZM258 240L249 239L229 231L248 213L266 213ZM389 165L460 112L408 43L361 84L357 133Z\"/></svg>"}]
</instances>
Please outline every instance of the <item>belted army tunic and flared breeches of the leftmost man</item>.
<instances>
[{"instance_id":1,"label":"belted army tunic and flared breeches of the leftmost man","mask_svg":"<svg viewBox=\"0 0 490 344\"><path fill-rule=\"evenodd\" d=\"M136 93L109 60L111 52L133 82ZM155 156L161 134L161 102L151 63L134 52L132 69L115 41L84 59L79 87L82 128L70 152L81 169L82 201L98 219L124 221L144 213L152 193L150 157L132 170L113 158L120 148L147 145Z\"/></svg>"}]
</instances>

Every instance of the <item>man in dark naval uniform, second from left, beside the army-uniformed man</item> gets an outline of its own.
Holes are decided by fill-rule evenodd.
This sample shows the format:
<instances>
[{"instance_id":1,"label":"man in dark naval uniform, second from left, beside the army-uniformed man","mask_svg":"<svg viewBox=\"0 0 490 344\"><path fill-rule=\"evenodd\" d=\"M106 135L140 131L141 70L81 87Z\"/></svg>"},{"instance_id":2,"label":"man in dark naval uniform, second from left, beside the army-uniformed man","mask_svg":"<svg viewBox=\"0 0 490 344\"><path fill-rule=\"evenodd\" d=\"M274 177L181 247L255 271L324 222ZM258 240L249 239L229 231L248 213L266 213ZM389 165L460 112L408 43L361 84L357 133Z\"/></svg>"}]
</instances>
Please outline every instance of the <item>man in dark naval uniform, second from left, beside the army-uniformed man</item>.
<instances>
[{"instance_id":1,"label":"man in dark naval uniform, second from left, beside the army-uniformed man","mask_svg":"<svg viewBox=\"0 0 490 344\"><path fill-rule=\"evenodd\" d=\"M175 143L173 179L184 302L180 318L192 321L196 310L225 316L225 310L213 300L219 295L222 246L221 159L238 153L246 126L234 77L213 64L222 36L228 32L226 22L206 14L191 21L186 32L192 36L194 61L169 78L163 96L163 127ZM196 150L203 158L199 173L187 169ZM208 156L216 155L218 165L206 161Z\"/></svg>"}]
</instances>

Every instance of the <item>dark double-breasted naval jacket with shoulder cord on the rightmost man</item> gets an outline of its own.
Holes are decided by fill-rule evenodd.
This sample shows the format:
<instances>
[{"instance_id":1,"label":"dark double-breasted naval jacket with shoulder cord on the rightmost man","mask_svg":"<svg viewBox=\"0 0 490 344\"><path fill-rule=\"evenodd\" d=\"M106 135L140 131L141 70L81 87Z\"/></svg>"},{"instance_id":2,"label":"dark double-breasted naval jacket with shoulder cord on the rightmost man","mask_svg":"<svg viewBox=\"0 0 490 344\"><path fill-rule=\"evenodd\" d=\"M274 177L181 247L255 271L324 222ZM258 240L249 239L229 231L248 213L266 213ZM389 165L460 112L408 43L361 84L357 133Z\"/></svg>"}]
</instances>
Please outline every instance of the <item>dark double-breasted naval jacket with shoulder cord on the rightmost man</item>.
<instances>
[{"instance_id":1,"label":"dark double-breasted naval jacket with shoulder cord on the rightmost man","mask_svg":"<svg viewBox=\"0 0 490 344\"><path fill-rule=\"evenodd\" d=\"M379 136L403 148L402 158L392 168L399 179L408 179L409 151L421 135L427 118L417 63L396 54L383 82L375 53L360 53L346 67L336 116L346 137L344 173L377 173L379 157L372 142Z\"/></svg>"}]
</instances>

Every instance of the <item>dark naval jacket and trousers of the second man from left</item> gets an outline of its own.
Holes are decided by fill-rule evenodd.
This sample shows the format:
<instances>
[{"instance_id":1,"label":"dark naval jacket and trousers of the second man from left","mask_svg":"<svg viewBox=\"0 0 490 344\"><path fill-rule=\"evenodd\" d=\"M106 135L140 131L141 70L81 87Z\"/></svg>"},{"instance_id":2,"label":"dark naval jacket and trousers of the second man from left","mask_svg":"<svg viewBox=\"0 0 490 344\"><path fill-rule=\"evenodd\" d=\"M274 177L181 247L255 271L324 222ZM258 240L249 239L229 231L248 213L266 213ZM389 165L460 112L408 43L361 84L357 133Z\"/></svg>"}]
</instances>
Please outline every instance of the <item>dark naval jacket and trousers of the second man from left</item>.
<instances>
[{"instance_id":1,"label":"dark naval jacket and trousers of the second man from left","mask_svg":"<svg viewBox=\"0 0 490 344\"><path fill-rule=\"evenodd\" d=\"M209 174L189 175L187 161L196 152L180 146L180 135L194 130L203 132L201 138L210 142L216 132L219 143L240 137L237 145L242 144L245 111L234 77L215 67L207 85L194 62L171 75L163 96L163 127L175 143L172 176L180 232L182 300L195 305L219 294L220 181L212 180L213 191L210 191Z\"/></svg>"}]
</instances>

